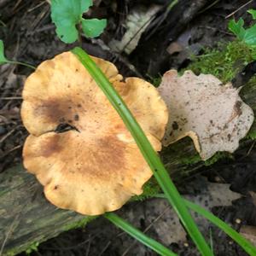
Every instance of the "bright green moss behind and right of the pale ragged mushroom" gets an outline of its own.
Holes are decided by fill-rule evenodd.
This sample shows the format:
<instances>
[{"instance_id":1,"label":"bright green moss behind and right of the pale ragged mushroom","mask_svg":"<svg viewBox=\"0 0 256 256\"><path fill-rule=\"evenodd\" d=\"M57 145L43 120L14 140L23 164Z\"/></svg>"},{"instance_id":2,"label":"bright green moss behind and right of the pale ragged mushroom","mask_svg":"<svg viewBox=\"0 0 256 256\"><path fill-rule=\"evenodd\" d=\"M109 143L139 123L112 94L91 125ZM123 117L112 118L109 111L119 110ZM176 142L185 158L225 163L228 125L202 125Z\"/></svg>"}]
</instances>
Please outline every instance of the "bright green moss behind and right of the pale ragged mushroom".
<instances>
[{"instance_id":1,"label":"bright green moss behind and right of the pale ragged mushroom","mask_svg":"<svg viewBox=\"0 0 256 256\"><path fill-rule=\"evenodd\" d=\"M211 73L227 83L236 77L238 72L249 62L256 60L256 48L239 41L219 44L218 49L206 49L204 55L192 57L193 63L188 68L195 74ZM241 90L241 98L256 112L256 77L253 77ZM246 138L256 139L256 122ZM222 154L215 156L214 161ZM212 161L210 161L211 163Z\"/></svg>"}]
</instances>

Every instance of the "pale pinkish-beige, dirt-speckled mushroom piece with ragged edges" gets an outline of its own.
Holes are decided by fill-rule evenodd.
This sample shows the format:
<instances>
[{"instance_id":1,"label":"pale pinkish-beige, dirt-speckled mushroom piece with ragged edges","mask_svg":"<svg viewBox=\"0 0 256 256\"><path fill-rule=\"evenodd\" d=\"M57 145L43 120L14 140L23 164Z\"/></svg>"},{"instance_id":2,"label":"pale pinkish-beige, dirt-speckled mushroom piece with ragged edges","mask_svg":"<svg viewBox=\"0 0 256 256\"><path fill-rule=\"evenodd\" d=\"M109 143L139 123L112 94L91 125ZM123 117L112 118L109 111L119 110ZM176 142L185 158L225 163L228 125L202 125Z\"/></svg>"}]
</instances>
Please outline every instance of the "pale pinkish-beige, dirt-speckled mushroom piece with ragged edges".
<instances>
[{"instance_id":1,"label":"pale pinkish-beige, dirt-speckled mushroom piece with ragged edges","mask_svg":"<svg viewBox=\"0 0 256 256\"><path fill-rule=\"evenodd\" d=\"M178 77L170 70L158 90L169 110L163 145L189 136L203 160L218 151L234 152L253 124L253 110L242 102L239 90L211 74L186 71Z\"/></svg>"}]
</instances>

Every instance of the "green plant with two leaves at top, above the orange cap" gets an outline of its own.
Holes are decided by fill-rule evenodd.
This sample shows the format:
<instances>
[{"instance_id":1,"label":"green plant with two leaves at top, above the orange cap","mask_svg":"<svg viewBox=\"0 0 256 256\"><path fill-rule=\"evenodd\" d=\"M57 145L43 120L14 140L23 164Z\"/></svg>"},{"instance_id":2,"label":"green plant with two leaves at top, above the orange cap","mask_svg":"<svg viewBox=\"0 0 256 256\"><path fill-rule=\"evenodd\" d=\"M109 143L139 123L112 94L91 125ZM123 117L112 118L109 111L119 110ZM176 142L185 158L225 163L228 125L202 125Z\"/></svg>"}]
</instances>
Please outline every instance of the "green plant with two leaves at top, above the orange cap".
<instances>
[{"instance_id":1,"label":"green plant with two leaves at top, above the orange cap","mask_svg":"<svg viewBox=\"0 0 256 256\"><path fill-rule=\"evenodd\" d=\"M92 0L51 1L51 19L55 23L57 35L64 43L71 44L78 40L81 30L88 38L96 38L102 33L107 20L87 20L82 17L91 5Z\"/></svg>"}]
</instances>

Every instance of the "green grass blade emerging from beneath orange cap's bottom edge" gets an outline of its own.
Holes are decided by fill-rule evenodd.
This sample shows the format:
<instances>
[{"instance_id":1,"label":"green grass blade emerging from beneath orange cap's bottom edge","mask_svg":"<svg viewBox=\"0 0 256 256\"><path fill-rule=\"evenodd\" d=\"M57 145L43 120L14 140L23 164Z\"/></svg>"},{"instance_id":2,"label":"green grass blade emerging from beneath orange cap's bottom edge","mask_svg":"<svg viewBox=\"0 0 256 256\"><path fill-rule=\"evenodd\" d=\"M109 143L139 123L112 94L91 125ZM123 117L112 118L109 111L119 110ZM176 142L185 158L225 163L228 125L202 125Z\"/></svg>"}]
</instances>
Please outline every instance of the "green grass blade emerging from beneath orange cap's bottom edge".
<instances>
[{"instance_id":1,"label":"green grass blade emerging from beneath orange cap's bottom edge","mask_svg":"<svg viewBox=\"0 0 256 256\"><path fill-rule=\"evenodd\" d=\"M159 253L160 255L165 255L165 256L177 256L176 253L173 253L167 247L164 247L163 245L161 245L158 241L155 241L154 239L146 236L142 231L137 230L131 224L129 224L127 221L125 221L123 218L120 218L118 215L114 214L113 212L105 213L104 217L108 218L109 221L111 221L113 224L118 226L121 230L124 230L130 236L137 239L137 241L140 241L145 246L154 250L154 252Z\"/></svg>"}]
</instances>

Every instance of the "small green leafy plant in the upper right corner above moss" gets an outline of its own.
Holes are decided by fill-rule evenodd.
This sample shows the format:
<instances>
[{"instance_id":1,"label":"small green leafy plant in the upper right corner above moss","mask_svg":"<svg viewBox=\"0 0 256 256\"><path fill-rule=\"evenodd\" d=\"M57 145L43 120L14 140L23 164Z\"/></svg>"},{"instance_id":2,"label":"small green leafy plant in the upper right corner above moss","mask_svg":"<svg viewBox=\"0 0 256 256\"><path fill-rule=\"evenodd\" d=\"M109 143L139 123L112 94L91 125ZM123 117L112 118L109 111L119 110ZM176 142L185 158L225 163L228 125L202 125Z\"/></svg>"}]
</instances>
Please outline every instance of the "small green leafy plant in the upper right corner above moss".
<instances>
[{"instance_id":1,"label":"small green leafy plant in the upper right corner above moss","mask_svg":"<svg viewBox=\"0 0 256 256\"><path fill-rule=\"evenodd\" d=\"M253 16L253 20L256 20L256 10L249 9L247 12ZM246 29L244 28L244 20L242 18L237 22L233 19L230 20L229 29L239 40L244 41L248 45L256 46L256 24Z\"/></svg>"}]
</instances>

